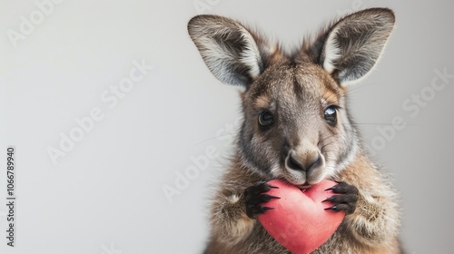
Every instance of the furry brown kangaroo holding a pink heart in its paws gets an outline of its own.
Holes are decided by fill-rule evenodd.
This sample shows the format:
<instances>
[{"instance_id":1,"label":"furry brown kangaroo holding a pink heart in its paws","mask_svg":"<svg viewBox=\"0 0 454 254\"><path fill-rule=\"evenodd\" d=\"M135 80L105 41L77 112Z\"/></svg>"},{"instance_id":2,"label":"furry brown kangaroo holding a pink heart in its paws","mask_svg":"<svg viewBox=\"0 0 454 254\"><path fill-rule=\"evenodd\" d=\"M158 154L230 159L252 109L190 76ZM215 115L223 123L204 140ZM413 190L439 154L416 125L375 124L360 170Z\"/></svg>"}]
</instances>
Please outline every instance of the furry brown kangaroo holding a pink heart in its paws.
<instances>
[{"instance_id":1,"label":"furry brown kangaroo holding a pink heart in its paws","mask_svg":"<svg viewBox=\"0 0 454 254\"><path fill-rule=\"evenodd\" d=\"M289 54L232 19L192 17L188 32L212 74L243 87L241 131L212 200L205 254L290 253L257 220L272 209L266 181L273 179L301 189L337 181L330 209L346 216L313 253L402 253L396 191L361 147L346 103L349 85L370 73L394 22L390 9L362 10Z\"/></svg>"}]
</instances>

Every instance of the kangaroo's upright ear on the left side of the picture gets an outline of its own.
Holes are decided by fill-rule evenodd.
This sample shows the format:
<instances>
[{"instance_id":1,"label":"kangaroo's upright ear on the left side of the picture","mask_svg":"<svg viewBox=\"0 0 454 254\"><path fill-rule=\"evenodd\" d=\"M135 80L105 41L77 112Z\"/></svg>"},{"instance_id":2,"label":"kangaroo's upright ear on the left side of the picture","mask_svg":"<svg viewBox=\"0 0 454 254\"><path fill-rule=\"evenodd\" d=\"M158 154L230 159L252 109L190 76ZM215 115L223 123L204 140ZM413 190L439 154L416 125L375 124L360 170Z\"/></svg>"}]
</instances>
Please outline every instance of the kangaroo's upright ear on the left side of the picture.
<instances>
[{"instance_id":1,"label":"kangaroo's upright ear on the left side of the picture","mask_svg":"<svg viewBox=\"0 0 454 254\"><path fill-rule=\"evenodd\" d=\"M262 73L268 45L242 24L217 15L197 15L188 32L203 61L222 83L248 86Z\"/></svg>"}]
</instances>

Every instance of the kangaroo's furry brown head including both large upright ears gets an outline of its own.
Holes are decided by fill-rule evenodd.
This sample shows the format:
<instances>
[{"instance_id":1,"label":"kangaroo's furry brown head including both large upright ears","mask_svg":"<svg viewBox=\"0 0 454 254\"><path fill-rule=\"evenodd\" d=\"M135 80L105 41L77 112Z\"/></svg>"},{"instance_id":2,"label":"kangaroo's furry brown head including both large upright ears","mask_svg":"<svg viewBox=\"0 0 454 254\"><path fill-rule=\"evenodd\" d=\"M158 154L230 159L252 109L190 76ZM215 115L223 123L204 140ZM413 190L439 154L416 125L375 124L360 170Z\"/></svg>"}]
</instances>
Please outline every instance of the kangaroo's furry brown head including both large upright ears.
<instances>
[{"instance_id":1,"label":"kangaroo's furry brown head including both large upright ears","mask_svg":"<svg viewBox=\"0 0 454 254\"><path fill-rule=\"evenodd\" d=\"M214 76L245 88L242 163L304 187L341 171L358 150L347 87L370 72L393 25L390 9L363 10L293 54L221 16L195 16L188 31Z\"/></svg>"}]
</instances>

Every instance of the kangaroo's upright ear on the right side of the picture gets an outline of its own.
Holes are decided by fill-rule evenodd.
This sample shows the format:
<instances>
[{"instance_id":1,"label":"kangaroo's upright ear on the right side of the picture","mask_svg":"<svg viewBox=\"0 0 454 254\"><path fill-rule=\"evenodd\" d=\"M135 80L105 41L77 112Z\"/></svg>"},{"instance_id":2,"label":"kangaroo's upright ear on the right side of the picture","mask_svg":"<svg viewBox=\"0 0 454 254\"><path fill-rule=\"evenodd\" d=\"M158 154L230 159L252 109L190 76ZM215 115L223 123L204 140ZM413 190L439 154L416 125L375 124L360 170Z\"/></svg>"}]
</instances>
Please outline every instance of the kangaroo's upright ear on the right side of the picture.
<instances>
[{"instance_id":1,"label":"kangaroo's upright ear on the right side of the picture","mask_svg":"<svg viewBox=\"0 0 454 254\"><path fill-rule=\"evenodd\" d=\"M323 68L347 86L370 72L394 26L394 13L371 8L348 15L331 26L321 50Z\"/></svg>"}]
</instances>

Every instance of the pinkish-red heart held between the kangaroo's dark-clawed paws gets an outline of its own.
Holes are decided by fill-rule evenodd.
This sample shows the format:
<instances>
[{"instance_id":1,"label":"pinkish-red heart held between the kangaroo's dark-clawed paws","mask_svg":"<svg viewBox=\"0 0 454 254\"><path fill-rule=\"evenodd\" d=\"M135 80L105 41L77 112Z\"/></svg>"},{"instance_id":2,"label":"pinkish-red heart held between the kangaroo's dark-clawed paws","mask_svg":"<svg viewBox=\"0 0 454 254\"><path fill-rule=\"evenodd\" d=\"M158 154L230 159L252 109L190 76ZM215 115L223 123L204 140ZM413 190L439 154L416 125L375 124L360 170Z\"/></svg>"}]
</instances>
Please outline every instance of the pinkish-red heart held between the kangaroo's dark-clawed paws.
<instances>
[{"instance_id":1,"label":"pinkish-red heart held between the kangaroo's dark-clawed paws","mask_svg":"<svg viewBox=\"0 0 454 254\"><path fill-rule=\"evenodd\" d=\"M281 199L266 203L274 209L259 215L259 220L263 228L292 253L311 253L341 225L345 213L325 210L332 203L321 202L333 195L331 190L326 189L336 185L336 182L321 181L307 190L280 180L268 183L279 189L271 189L267 194Z\"/></svg>"}]
</instances>

